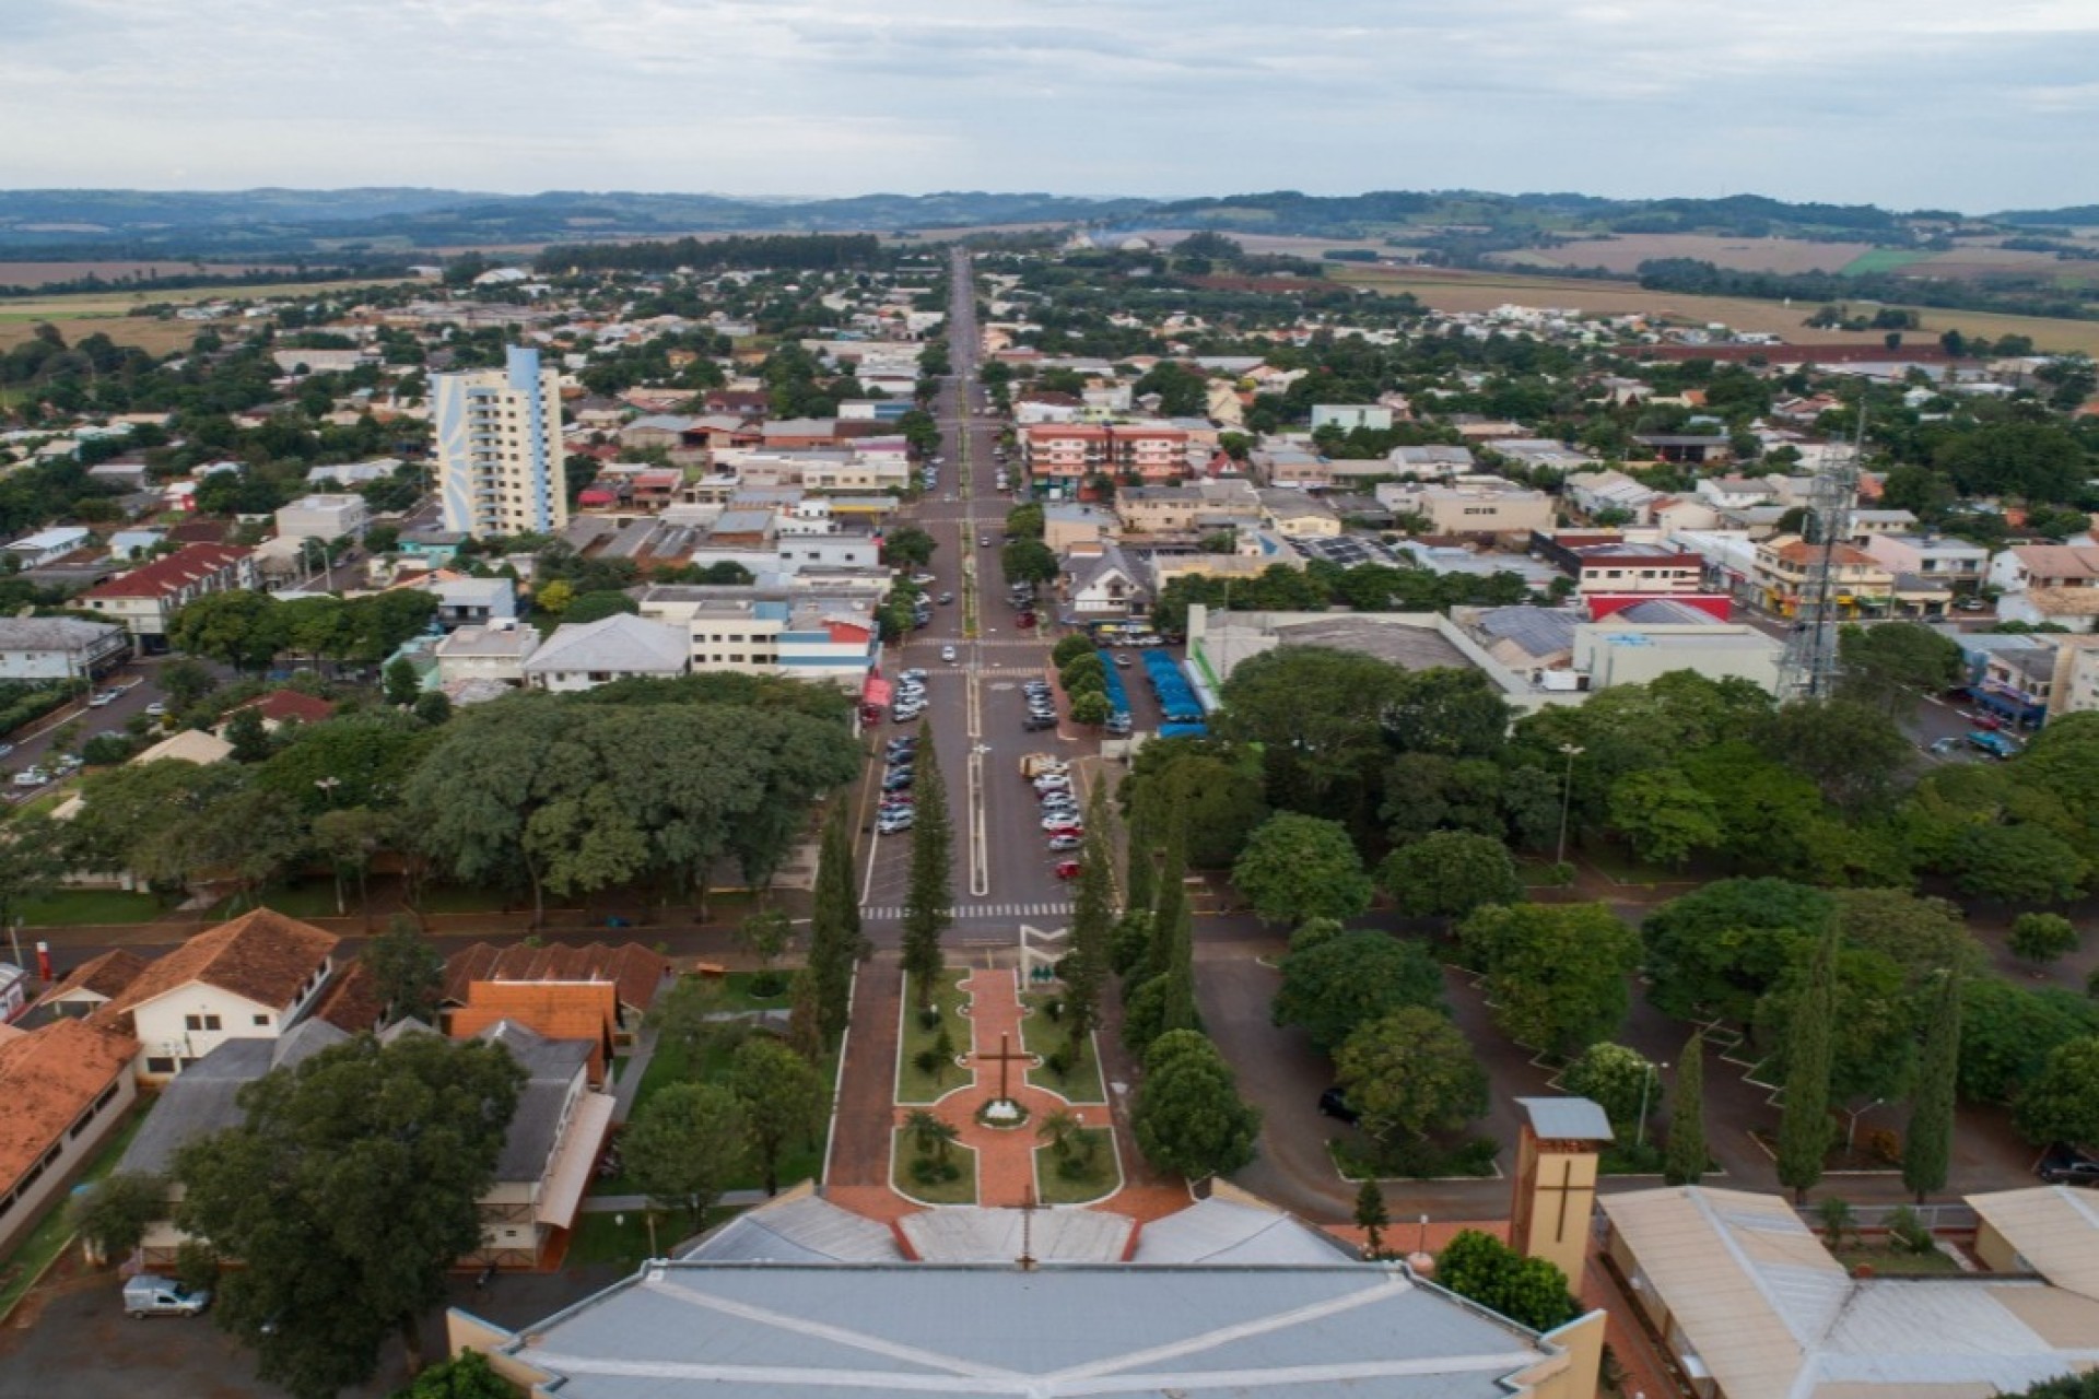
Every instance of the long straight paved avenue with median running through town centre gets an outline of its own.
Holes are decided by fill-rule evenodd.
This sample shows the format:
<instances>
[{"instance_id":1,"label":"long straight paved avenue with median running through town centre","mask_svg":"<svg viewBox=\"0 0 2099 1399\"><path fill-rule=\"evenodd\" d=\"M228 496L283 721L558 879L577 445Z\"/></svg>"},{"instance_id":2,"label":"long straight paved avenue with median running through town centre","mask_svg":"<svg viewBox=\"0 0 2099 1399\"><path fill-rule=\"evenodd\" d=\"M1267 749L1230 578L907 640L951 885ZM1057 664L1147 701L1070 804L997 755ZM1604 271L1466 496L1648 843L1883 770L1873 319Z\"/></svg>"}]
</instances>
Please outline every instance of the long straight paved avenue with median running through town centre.
<instances>
[{"instance_id":1,"label":"long straight paved avenue with median running through town centre","mask_svg":"<svg viewBox=\"0 0 2099 1399\"><path fill-rule=\"evenodd\" d=\"M1010 501L995 491L997 464L991 449L999 426L984 417L984 390L976 380L978 329L970 258L955 252L955 294L949 308L949 346L955 375L942 384L934 405L945 438L947 464L940 487L900 514L928 531L938 550L928 591L953 591L955 602L934 608L934 621L913 631L888 659L888 673L919 667L928 671L926 717L913 724L882 724L877 734L930 732L940 753L949 812L955 820L955 931L951 942L1012 944L1024 921L1060 925L1070 908L1070 891L1056 879L1056 858L1041 831L1041 810L1033 789L1020 778L1020 757L1056 751L1094 759L1098 742L1073 732L1024 732L1020 719L1022 682L1047 675L1054 638L1016 631L1014 608L1005 602L999 568L999 537ZM980 545L989 539L989 547ZM970 621L976 621L972 636ZM955 661L942 661L942 648ZM1091 780L1091 761L1081 770L1081 799ZM867 933L877 946L896 946L896 917L905 902L909 837L871 833L873 784L863 791L863 858Z\"/></svg>"}]
</instances>

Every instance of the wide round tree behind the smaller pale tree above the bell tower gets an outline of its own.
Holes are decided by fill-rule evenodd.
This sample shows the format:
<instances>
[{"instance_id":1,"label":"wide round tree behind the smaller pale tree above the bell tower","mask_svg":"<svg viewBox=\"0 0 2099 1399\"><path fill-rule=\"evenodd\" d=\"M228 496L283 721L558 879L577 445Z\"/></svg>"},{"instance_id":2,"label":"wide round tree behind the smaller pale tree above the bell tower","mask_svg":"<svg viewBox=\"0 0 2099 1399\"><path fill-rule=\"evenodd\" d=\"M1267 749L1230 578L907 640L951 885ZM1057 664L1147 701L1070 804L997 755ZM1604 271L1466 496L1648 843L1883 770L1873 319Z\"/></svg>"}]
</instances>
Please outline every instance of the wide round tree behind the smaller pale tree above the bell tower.
<instances>
[{"instance_id":1,"label":"wide round tree behind the smaller pale tree above the bell tower","mask_svg":"<svg viewBox=\"0 0 2099 1399\"><path fill-rule=\"evenodd\" d=\"M1625 1024L1639 938L1608 906L1488 906L1459 938L1486 969L1494 1024L1518 1042L1572 1055Z\"/></svg>"}]
</instances>

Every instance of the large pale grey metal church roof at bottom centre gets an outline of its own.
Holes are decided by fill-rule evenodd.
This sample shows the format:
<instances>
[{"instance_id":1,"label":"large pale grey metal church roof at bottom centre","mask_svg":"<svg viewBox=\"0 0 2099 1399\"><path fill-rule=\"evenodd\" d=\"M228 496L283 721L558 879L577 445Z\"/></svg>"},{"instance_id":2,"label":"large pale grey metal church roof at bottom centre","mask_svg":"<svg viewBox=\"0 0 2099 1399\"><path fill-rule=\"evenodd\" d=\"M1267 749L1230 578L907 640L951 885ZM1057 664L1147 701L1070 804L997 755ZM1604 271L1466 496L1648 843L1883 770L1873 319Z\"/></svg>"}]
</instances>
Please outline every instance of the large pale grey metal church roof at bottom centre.
<instances>
[{"instance_id":1,"label":"large pale grey metal church roof at bottom centre","mask_svg":"<svg viewBox=\"0 0 2099 1399\"><path fill-rule=\"evenodd\" d=\"M500 1347L565 1399L1488 1399L1553 1355L1396 1265L659 1263Z\"/></svg>"}]
</instances>

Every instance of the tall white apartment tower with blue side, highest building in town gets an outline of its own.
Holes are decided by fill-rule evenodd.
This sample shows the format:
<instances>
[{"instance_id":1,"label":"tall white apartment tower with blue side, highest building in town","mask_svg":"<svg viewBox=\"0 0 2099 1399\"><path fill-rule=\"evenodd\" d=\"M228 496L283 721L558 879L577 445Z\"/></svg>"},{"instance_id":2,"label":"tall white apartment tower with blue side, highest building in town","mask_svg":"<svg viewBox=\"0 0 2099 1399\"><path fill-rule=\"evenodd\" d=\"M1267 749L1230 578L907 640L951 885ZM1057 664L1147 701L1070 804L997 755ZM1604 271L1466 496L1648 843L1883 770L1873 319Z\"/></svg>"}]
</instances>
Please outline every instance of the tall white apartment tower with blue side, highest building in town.
<instances>
[{"instance_id":1,"label":"tall white apartment tower with blue side, highest building in town","mask_svg":"<svg viewBox=\"0 0 2099 1399\"><path fill-rule=\"evenodd\" d=\"M554 533L569 522L560 476L560 373L512 346L502 369L432 375L445 529Z\"/></svg>"}]
</instances>

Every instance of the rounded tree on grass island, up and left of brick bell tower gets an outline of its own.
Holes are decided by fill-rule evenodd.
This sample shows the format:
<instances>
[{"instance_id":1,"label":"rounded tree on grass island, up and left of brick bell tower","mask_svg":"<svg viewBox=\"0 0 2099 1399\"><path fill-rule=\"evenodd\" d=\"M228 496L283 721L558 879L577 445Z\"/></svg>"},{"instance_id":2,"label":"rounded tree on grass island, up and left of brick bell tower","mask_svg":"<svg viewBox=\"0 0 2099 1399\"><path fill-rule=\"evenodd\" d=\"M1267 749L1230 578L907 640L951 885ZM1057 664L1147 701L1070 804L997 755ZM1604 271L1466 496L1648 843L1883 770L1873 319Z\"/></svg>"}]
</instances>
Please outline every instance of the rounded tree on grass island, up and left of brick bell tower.
<instances>
[{"instance_id":1,"label":"rounded tree on grass island, up and left of brick bell tower","mask_svg":"<svg viewBox=\"0 0 2099 1399\"><path fill-rule=\"evenodd\" d=\"M1486 1112L1486 1070L1448 1017L1400 1007L1358 1026L1335 1055L1350 1105L1379 1137L1457 1131Z\"/></svg>"}]
</instances>

